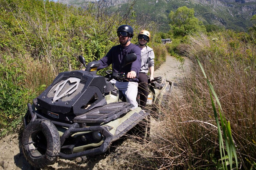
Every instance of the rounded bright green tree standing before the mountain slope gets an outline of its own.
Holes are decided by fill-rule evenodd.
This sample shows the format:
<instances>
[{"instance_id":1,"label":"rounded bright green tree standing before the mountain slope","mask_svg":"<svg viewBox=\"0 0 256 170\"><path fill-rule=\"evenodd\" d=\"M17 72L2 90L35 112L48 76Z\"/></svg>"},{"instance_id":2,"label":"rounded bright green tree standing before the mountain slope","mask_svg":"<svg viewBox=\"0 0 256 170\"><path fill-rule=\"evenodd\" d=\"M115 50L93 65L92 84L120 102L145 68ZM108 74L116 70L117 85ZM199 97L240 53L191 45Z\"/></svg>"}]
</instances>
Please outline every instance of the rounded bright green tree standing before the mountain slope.
<instances>
[{"instance_id":1,"label":"rounded bright green tree standing before the mountain slope","mask_svg":"<svg viewBox=\"0 0 256 170\"><path fill-rule=\"evenodd\" d=\"M194 9L186 6L178 8L169 14L170 27L174 36L185 36L192 32L206 32L202 21L194 16Z\"/></svg>"}]
</instances>

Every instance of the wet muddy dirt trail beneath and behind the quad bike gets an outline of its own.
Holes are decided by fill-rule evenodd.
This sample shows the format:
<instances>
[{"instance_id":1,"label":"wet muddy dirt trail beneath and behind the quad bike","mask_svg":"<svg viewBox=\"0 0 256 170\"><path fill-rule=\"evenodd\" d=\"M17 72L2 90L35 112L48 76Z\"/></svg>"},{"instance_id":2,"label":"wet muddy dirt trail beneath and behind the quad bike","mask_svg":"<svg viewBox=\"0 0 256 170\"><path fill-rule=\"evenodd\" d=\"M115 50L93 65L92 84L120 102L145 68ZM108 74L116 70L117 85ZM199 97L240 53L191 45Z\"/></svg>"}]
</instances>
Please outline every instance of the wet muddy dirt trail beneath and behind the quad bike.
<instances>
[{"instance_id":1,"label":"wet muddy dirt trail beneath and behind the quad bike","mask_svg":"<svg viewBox=\"0 0 256 170\"><path fill-rule=\"evenodd\" d=\"M187 64L188 60L185 60L183 66ZM176 85L178 82L180 82L182 76L182 69L179 69L180 66L180 62L175 60L174 57L167 56L166 62L154 72L154 77L162 76L163 80L170 80L176 82L174 84ZM21 127L20 129L22 130L23 128ZM152 130L154 131L154 129ZM0 170L34 169L24 158L20 147L20 138L21 133L16 132L15 134L11 134L6 136L5 138L0 139ZM140 144L134 142L127 143L127 141L124 141L120 145L135 149L140 149L141 147ZM118 147L116 150L118 150ZM129 154L128 152L129 151L127 151L127 154ZM122 160L122 156L120 156L119 153L110 152L98 156L91 156L83 163L76 163L75 161L57 159L57 162L55 164L49 165L44 169L127 169L124 168L125 166L123 165L124 160Z\"/></svg>"}]
</instances>

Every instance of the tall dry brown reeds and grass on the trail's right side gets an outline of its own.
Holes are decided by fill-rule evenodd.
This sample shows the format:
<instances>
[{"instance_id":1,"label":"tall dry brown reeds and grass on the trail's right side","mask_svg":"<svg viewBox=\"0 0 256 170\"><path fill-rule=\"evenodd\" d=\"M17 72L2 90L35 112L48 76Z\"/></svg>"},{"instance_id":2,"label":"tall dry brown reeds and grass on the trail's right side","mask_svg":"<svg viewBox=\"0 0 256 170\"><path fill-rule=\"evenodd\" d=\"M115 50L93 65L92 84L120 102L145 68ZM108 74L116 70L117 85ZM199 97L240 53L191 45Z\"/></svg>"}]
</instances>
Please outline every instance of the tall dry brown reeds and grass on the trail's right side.
<instances>
[{"instance_id":1,"label":"tall dry brown reeds and grass on the trail's right side","mask_svg":"<svg viewBox=\"0 0 256 170\"><path fill-rule=\"evenodd\" d=\"M192 43L187 54L192 65L180 85L183 96L167 99L169 108L162 110L157 125L154 125L157 128L153 129L147 150L155 153L152 160L157 162L158 168L217 166L214 158L219 154L218 135L208 85L195 63L197 56L219 96L225 117L230 121L234 141L239 148L240 166L249 167L243 158L255 162L255 68L245 70L248 64L246 56L237 60L237 52L233 56L228 55L233 50L228 49L228 38L220 38L220 42L210 41L205 35L190 38ZM255 51L251 45L241 47L242 52ZM250 62L255 63L253 58Z\"/></svg>"}]
</instances>

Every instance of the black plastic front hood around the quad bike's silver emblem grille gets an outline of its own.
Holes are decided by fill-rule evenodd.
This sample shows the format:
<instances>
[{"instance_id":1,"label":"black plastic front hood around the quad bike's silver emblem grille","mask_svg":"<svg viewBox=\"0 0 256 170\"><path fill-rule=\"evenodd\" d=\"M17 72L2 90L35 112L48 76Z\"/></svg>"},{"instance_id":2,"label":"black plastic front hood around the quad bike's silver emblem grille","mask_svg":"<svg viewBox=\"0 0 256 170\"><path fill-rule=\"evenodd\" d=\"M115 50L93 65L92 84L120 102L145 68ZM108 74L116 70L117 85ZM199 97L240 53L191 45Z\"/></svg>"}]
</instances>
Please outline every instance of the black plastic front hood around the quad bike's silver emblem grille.
<instances>
[{"instance_id":1,"label":"black plastic front hood around the quad bike's silver emblem grille","mask_svg":"<svg viewBox=\"0 0 256 170\"><path fill-rule=\"evenodd\" d=\"M70 77L78 78L85 85L79 94L75 95L68 101L53 101L53 97L47 97L49 91L60 82L62 79L69 79ZM46 110L57 113L70 113L73 112L76 116L81 115L95 107L104 106L107 104L104 93L113 90L113 85L106 82L103 76L91 74L90 72L77 70L71 72L60 73L53 81L53 83L37 97L37 103L40 107ZM95 95L98 97L88 108L84 109L81 106L86 106L89 100Z\"/></svg>"}]
</instances>

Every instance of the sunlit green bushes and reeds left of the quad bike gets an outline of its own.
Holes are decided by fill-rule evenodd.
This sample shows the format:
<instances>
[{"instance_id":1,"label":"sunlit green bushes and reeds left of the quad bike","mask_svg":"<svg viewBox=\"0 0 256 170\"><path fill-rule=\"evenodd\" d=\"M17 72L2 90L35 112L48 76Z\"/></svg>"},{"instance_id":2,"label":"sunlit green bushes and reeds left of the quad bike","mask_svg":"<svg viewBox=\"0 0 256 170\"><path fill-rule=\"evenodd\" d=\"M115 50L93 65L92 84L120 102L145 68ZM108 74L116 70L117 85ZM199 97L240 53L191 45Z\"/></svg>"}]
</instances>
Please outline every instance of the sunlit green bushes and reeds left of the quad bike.
<instances>
[{"instance_id":1,"label":"sunlit green bushes and reeds left of the quad bike","mask_svg":"<svg viewBox=\"0 0 256 170\"><path fill-rule=\"evenodd\" d=\"M117 45L118 26L133 26L132 42L137 42L137 33L145 23L134 20L132 6L122 15L107 15L107 6L102 8L102 3L76 8L44 0L0 1L1 136L21 123L27 103L59 72L81 69L79 55L89 63ZM161 41L154 25L147 29L153 35L149 45L156 49L156 60L161 64L166 52L157 52ZM99 74L104 75L104 70Z\"/></svg>"}]
</instances>

